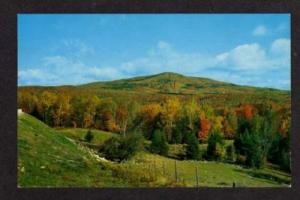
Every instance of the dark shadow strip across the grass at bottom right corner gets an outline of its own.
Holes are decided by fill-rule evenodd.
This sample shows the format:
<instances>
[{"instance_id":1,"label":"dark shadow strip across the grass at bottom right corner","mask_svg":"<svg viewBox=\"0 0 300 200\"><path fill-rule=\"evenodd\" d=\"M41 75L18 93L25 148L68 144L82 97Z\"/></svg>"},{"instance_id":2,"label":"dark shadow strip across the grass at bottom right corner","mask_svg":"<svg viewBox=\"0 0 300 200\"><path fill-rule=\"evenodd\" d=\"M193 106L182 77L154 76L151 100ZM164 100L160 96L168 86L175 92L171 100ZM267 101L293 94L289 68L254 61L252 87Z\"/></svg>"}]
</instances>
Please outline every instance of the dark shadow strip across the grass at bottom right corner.
<instances>
[{"instance_id":1,"label":"dark shadow strip across the grass at bottom right corner","mask_svg":"<svg viewBox=\"0 0 300 200\"><path fill-rule=\"evenodd\" d=\"M235 171L237 172L240 172L240 173L245 173L251 177L254 177L254 178L260 178L260 179L264 179L264 180L267 180L267 181L271 181L271 182L276 182L276 183L279 183L279 184L291 184L291 182L287 179L284 179L284 178L281 178L281 177L278 177L278 176L275 176L275 175L271 175L271 174L268 174L266 172L259 172L259 171L245 171L245 170L241 170L241 169L235 169Z\"/></svg>"}]
</instances>

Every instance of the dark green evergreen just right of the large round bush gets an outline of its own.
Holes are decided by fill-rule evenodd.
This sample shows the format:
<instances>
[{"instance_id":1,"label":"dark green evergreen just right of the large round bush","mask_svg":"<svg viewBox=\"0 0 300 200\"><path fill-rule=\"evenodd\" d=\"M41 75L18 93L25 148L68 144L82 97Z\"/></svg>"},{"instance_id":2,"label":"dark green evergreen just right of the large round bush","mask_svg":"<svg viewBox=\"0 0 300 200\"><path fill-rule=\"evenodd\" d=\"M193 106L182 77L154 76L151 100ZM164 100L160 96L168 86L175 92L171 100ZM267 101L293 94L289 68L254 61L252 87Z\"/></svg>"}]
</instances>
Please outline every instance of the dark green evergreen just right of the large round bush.
<instances>
[{"instance_id":1,"label":"dark green evergreen just right of the large round bush","mask_svg":"<svg viewBox=\"0 0 300 200\"><path fill-rule=\"evenodd\" d=\"M168 144L165 134L160 130L155 130L151 139L150 151L160 155L168 154Z\"/></svg>"}]
</instances>

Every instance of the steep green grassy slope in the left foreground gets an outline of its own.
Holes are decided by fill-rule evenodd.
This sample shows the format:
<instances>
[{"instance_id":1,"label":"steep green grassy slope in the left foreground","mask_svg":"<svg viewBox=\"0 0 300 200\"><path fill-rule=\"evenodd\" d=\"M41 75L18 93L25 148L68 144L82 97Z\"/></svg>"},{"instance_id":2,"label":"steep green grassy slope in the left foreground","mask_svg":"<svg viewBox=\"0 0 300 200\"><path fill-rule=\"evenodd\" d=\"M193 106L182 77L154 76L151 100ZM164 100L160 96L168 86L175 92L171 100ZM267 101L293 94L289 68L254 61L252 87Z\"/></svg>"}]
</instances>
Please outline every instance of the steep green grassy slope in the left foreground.
<instances>
[{"instance_id":1,"label":"steep green grassy slope in the left foreground","mask_svg":"<svg viewBox=\"0 0 300 200\"><path fill-rule=\"evenodd\" d=\"M18 117L20 187L116 187L130 185L100 169L96 159L34 117Z\"/></svg>"}]
</instances>

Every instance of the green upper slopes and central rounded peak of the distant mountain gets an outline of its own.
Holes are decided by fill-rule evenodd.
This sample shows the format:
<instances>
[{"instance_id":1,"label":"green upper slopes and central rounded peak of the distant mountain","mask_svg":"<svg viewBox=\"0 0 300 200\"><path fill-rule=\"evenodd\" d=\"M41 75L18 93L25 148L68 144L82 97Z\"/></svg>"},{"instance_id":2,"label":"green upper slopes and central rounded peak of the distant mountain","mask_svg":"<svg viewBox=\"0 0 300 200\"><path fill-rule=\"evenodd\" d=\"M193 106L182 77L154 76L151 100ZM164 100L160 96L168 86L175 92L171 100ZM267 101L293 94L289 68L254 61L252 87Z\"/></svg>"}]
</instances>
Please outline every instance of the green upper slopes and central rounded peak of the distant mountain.
<instances>
[{"instance_id":1,"label":"green upper slopes and central rounded peak of the distant mountain","mask_svg":"<svg viewBox=\"0 0 300 200\"><path fill-rule=\"evenodd\" d=\"M280 91L272 88L239 86L213 79L184 76L172 72L164 72L150 76L140 76L115 81L94 82L83 84L79 87L178 94L224 94L228 92L241 92L241 90L244 92L253 92L257 90Z\"/></svg>"}]
</instances>

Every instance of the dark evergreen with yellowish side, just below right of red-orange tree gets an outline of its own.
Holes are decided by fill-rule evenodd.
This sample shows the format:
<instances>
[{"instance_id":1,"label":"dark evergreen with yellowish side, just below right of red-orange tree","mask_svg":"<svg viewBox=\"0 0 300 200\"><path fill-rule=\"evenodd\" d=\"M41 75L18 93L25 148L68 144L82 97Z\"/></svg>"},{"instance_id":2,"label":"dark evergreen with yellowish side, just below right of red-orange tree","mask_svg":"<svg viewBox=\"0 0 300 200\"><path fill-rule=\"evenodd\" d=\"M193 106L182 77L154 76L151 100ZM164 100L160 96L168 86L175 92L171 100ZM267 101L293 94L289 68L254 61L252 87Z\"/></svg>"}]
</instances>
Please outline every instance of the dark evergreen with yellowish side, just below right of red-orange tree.
<instances>
[{"instance_id":1,"label":"dark evergreen with yellowish side, just below right of red-orange tree","mask_svg":"<svg viewBox=\"0 0 300 200\"><path fill-rule=\"evenodd\" d=\"M214 130L208 137L207 157L212 160L221 160L224 157L224 139L219 131Z\"/></svg>"}]
</instances>

